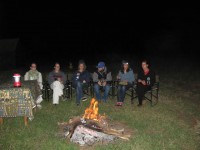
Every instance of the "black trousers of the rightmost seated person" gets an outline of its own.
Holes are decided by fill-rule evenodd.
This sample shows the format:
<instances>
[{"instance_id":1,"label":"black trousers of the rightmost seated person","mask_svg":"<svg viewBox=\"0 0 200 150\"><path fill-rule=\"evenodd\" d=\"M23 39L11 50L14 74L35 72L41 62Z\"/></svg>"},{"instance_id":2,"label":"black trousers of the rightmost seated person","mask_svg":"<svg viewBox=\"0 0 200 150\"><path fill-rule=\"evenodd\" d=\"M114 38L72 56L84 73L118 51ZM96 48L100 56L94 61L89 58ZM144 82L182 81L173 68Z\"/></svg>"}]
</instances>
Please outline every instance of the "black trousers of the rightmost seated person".
<instances>
[{"instance_id":1,"label":"black trousers of the rightmost seated person","mask_svg":"<svg viewBox=\"0 0 200 150\"><path fill-rule=\"evenodd\" d=\"M151 89L150 86L143 85L142 83L137 84L136 92L138 95L138 102L142 105L142 100L144 98L144 94Z\"/></svg>"}]
</instances>

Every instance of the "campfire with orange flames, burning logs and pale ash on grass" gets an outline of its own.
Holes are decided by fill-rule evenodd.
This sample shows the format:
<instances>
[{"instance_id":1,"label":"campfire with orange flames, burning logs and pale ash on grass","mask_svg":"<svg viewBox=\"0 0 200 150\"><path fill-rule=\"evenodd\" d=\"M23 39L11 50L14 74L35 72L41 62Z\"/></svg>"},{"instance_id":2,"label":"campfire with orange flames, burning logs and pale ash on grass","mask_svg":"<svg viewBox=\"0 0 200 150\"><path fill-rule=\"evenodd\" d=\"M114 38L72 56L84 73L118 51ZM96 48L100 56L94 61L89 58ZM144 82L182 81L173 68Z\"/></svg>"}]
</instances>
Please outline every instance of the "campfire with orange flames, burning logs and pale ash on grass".
<instances>
[{"instance_id":1,"label":"campfire with orange flames, burning logs and pale ash on grass","mask_svg":"<svg viewBox=\"0 0 200 150\"><path fill-rule=\"evenodd\" d=\"M94 98L82 116L73 117L58 125L62 136L81 146L106 144L116 139L129 140L131 136L131 131L128 128L126 131L124 125L113 123L105 114L99 114L98 101Z\"/></svg>"}]
</instances>

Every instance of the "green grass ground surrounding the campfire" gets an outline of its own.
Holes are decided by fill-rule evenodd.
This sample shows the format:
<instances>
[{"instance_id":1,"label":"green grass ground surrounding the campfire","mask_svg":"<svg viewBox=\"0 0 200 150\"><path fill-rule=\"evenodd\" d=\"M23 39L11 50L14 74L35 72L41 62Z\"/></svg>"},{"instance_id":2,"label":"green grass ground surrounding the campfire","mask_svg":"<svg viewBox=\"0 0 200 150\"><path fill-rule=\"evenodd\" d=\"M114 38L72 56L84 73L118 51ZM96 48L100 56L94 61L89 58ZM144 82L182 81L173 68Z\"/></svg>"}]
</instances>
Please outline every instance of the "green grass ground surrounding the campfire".
<instances>
[{"instance_id":1,"label":"green grass ground surrounding the campfire","mask_svg":"<svg viewBox=\"0 0 200 150\"><path fill-rule=\"evenodd\" d=\"M131 108L127 98L122 108L114 106L115 100L100 104L99 111L114 121L120 121L133 129L130 141L92 147L97 150L199 150L200 149L200 82L199 72L190 75L176 71L160 77L159 103L151 107ZM34 113L34 120L24 126L23 118L6 118L0 126L0 150L76 150L79 146L57 136L57 122L83 114L89 101L80 107L75 100L53 106L44 101L43 108Z\"/></svg>"}]
</instances>

